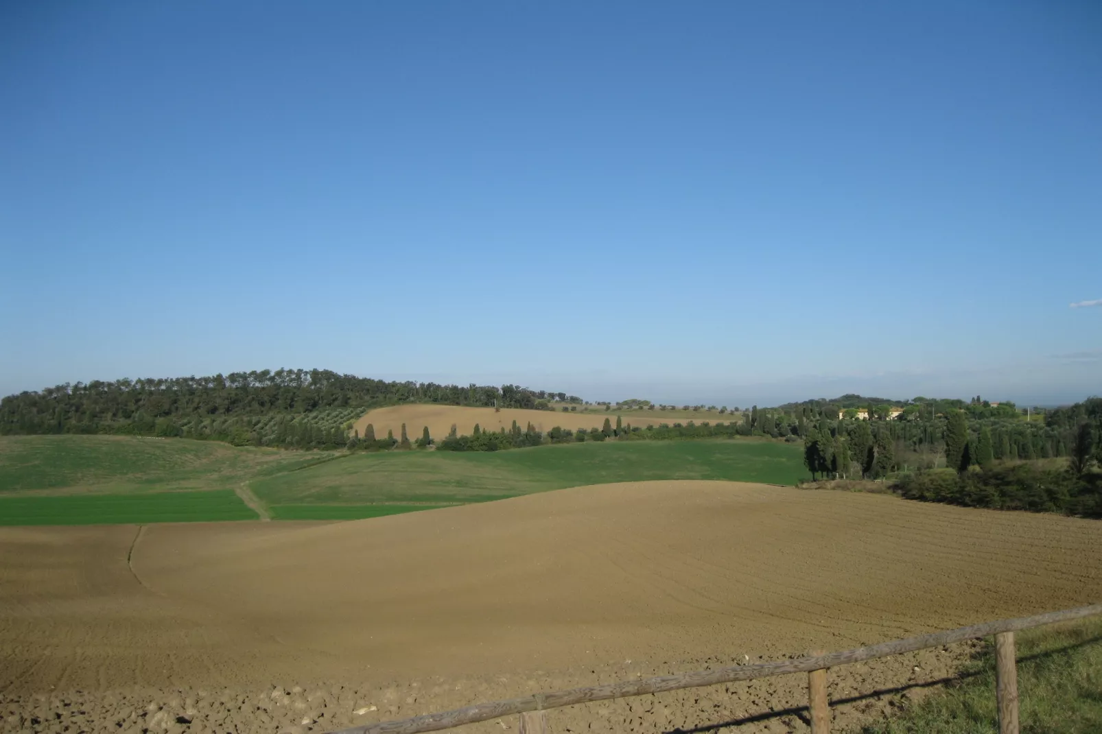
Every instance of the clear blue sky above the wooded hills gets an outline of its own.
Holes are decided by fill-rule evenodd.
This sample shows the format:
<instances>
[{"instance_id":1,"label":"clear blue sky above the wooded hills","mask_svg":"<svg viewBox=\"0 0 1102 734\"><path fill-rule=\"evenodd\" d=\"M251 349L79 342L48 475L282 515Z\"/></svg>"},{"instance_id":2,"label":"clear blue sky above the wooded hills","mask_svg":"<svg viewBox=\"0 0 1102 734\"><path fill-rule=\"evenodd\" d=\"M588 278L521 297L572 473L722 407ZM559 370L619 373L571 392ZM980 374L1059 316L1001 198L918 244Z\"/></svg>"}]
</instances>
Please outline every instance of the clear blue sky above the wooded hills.
<instances>
[{"instance_id":1,"label":"clear blue sky above the wooded hills","mask_svg":"<svg viewBox=\"0 0 1102 734\"><path fill-rule=\"evenodd\" d=\"M6 3L0 393L1102 392L1102 6Z\"/></svg>"}]
</instances>

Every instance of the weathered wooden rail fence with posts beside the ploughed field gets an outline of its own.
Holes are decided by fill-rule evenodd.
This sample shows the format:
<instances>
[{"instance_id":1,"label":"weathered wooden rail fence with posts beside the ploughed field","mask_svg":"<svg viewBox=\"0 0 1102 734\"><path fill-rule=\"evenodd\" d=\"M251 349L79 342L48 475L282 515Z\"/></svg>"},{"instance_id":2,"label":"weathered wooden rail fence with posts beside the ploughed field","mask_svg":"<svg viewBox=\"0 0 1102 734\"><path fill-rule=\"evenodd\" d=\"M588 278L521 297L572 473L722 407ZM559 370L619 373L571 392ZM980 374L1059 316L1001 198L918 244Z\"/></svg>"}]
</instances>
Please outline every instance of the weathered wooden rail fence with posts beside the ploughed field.
<instances>
[{"instance_id":1,"label":"weathered wooden rail fence with posts beside the ploughed field","mask_svg":"<svg viewBox=\"0 0 1102 734\"><path fill-rule=\"evenodd\" d=\"M1070 622L1102 614L1102 604L1081 606L1062 612L1049 612L1033 617L1001 619L971 627L961 627L948 632L920 635L890 643L880 643L868 647L860 647L842 652L825 655L813 654L811 657L779 662L763 662L752 666L734 666L717 670L698 670L678 673L676 676L659 676L640 681L624 681L606 686L575 688L569 691L536 693L521 699L478 703L465 709L444 711L441 713L414 716L401 721L388 721L377 724L365 724L342 730L336 734L419 734L435 732L442 728L453 728L463 724L499 719L520 714L521 734L544 734L547 732L547 712L550 709L570 706L591 701L623 699L663 691L677 691L683 688L700 688L716 686L741 680L755 680L769 676L786 673L808 673L809 709L811 712L812 734L829 734L830 702L827 699L827 670L851 662L873 660L890 655L914 652L931 647L941 647L966 639L995 636L995 676L996 695L998 699L998 732L1000 734L1018 734L1018 688L1017 666L1014 654L1014 633L1019 629L1040 627L1057 622Z\"/></svg>"}]
</instances>

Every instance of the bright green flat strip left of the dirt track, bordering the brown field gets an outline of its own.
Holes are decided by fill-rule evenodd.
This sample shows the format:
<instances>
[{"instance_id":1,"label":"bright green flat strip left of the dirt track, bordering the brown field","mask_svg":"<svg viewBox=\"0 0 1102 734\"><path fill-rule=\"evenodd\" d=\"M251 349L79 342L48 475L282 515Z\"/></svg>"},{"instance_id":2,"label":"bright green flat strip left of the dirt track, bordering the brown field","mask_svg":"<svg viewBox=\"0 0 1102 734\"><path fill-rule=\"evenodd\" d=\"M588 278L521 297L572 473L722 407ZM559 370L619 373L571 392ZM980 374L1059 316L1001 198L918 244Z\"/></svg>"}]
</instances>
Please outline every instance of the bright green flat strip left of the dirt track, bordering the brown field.
<instances>
[{"instance_id":1,"label":"bright green flat strip left of the dirt track, bordering the brown field","mask_svg":"<svg viewBox=\"0 0 1102 734\"><path fill-rule=\"evenodd\" d=\"M255 520L231 490L0 497L0 525L108 525Z\"/></svg>"}]
</instances>

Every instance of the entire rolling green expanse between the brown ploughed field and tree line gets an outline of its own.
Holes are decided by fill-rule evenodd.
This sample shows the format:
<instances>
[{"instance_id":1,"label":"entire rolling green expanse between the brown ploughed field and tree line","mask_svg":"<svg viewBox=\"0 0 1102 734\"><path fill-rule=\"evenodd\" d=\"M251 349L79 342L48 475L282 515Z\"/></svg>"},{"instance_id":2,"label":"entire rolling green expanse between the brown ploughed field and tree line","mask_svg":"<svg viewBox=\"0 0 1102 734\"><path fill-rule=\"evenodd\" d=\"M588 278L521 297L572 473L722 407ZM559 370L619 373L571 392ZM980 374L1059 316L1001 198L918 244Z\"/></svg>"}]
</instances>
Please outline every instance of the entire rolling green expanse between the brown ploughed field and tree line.
<instances>
[{"instance_id":1,"label":"entire rolling green expanse between the brown ploughed field and tree line","mask_svg":"<svg viewBox=\"0 0 1102 734\"><path fill-rule=\"evenodd\" d=\"M792 485L798 446L771 441L631 441L501 452L344 454L184 439L0 438L0 525L360 519L611 482L731 479ZM199 492L202 490L202 492Z\"/></svg>"}]
</instances>

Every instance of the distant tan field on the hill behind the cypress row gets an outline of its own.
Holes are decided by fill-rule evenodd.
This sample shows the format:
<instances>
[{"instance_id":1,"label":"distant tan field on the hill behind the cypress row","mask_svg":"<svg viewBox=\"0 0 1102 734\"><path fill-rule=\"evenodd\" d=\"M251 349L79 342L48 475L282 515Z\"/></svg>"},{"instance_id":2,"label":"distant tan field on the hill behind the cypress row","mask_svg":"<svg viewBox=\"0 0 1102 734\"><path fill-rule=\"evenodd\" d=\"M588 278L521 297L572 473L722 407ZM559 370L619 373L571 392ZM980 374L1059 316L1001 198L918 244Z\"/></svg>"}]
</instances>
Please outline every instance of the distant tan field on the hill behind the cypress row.
<instances>
[{"instance_id":1,"label":"distant tan field on the hill behind the cypress row","mask_svg":"<svg viewBox=\"0 0 1102 734\"><path fill-rule=\"evenodd\" d=\"M616 415L622 415L625 423L646 428L647 425L658 425L659 423L670 423L677 419L661 419L659 417L644 415L641 411L629 411L625 413L616 412L594 412L594 413L564 413L550 410L522 410L520 408L503 408L495 411L493 408L463 408L460 406L433 406L433 404L407 404L391 406L389 408L377 408L359 418L354 428L364 435L364 429L370 423L375 428L375 435L383 439L387 431L393 431L395 438L401 435L402 423L406 423L406 431L410 441L421 438L421 429L429 427L429 434L441 440L452 430L455 424L460 435L471 435L475 430L475 423L483 430L500 431L512 427L512 421L523 429L528 423L536 427L537 431L550 431L555 425L571 431L580 428L593 429L605 424L607 418L613 425L616 424ZM713 419L717 421L719 418Z\"/></svg>"}]
</instances>

